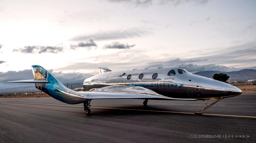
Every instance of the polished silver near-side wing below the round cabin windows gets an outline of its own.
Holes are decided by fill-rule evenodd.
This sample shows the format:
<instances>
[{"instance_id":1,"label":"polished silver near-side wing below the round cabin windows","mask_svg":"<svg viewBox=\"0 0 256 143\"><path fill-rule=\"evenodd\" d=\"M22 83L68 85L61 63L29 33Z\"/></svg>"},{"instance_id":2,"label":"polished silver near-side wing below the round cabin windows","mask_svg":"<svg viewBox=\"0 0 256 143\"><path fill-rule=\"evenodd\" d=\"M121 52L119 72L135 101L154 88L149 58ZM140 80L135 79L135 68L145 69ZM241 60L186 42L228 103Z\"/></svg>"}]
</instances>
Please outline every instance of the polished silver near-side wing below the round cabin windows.
<instances>
[{"instance_id":1,"label":"polished silver near-side wing below the round cabin windows","mask_svg":"<svg viewBox=\"0 0 256 143\"><path fill-rule=\"evenodd\" d=\"M108 86L104 88L91 89L90 91L80 91L89 99L117 99L117 98L135 98L135 99L151 99L151 100L196 100L171 98L160 95L150 89L139 86Z\"/></svg>"}]
</instances>

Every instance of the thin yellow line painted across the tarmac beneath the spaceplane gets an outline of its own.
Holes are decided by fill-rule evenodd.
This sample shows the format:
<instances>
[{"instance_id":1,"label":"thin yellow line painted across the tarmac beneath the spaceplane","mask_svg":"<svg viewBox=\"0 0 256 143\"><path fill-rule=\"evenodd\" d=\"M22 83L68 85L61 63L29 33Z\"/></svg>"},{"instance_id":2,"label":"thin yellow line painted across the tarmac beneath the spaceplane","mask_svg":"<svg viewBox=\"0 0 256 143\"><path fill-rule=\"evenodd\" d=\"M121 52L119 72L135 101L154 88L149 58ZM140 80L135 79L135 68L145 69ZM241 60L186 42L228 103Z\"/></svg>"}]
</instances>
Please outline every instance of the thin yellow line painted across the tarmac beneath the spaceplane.
<instances>
[{"instance_id":1,"label":"thin yellow line painted across the tarmac beneath the spaceplane","mask_svg":"<svg viewBox=\"0 0 256 143\"><path fill-rule=\"evenodd\" d=\"M7 103L37 104L37 105L51 105L51 106L70 106L70 107L84 107L84 106L74 106L74 105L43 104L43 103L25 103L25 102L7 102ZM116 110L133 110L133 111L148 111L148 112L162 112L162 113L195 114L195 113L191 113L191 112L157 111L157 110L141 110L141 109L123 109L123 108L109 108L109 107L90 107L90 108L116 109ZM256 116L223 115L223 114L207 114L207 113L201 113L200 115L256 118Z\"/></svg>"}]
</instances>

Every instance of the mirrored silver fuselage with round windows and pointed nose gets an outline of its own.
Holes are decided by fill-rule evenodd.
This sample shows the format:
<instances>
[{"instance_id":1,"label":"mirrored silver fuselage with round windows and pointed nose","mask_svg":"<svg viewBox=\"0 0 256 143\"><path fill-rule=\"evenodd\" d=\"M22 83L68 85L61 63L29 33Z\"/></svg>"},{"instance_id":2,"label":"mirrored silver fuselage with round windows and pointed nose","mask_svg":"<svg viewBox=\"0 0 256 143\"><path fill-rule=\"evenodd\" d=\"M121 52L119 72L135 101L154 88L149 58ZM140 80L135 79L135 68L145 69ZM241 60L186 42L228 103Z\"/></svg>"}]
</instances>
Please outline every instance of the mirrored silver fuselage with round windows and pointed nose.
<instances>
[{"instance_id":1,"label":"mirrored silver fuselage with round windows and pointed nose","mask_svg":"<svg viewBox=\"0 0 256 143\"><path fill-rule=\"evenodd\" d=\"M189 73L181 67L152 67L111 71L89 77L85 90L118 86L118 92L129 92L134 86L150 89L172 98L221 99L240 95L235 86Z\"/></svg>"}]
</instances>

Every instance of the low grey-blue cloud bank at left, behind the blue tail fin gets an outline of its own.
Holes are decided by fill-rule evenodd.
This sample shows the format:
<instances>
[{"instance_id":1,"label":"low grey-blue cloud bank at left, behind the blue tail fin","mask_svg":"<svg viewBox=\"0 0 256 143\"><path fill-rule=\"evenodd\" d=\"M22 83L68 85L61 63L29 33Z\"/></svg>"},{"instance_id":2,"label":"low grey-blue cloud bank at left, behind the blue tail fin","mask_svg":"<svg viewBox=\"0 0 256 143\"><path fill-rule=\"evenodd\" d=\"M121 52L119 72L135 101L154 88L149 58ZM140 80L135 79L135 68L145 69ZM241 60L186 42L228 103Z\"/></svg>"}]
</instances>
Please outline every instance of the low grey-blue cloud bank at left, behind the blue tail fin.
<instances>
[{"instance_id":1,"label":"low grey-blue cloud bank at left, behind the blue tail fin","mask_svg":"<svg viewBox=\"0 0 256 143\"><path fill-rule=\"evenodd\" d=\"M86 73L62 73L62 72L53 72L53 70L48 70L56 79L61 83L82 83L86 78L93 76L92 74ZM21 71L8 71L0 72L0 89L12 88L18 86L32 86L33 83L8 83L12 80L26 80L33 79L32 70L21 70Z\"/></svg>"}]
</instances>

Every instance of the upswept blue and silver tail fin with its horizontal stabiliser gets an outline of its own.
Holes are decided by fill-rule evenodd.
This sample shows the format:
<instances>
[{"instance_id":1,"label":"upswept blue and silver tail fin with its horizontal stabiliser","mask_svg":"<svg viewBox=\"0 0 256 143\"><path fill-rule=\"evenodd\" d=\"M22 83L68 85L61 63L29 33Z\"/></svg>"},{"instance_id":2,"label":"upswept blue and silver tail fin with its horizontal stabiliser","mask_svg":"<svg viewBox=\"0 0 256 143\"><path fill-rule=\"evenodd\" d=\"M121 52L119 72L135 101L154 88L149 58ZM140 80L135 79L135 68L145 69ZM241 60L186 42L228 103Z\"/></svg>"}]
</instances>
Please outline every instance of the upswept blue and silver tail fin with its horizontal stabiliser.
<instances>
[{"instance_id":1,"label":"upswept blue and silver tail fin with its horizontal stabiliser","mask_svg":"<svg viewBox=\"0 0 256 143\"><path fill-rule=\"evenodd\" d=\"M68 104L78 104L88 100L83 94L64 86L43 67L34 65L32 66L32 71L34 74L34 80L19 80L11 82L35 83L36 88L51 97Z\"/></svg>"}]
</instances>

